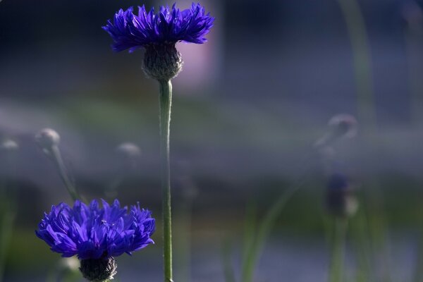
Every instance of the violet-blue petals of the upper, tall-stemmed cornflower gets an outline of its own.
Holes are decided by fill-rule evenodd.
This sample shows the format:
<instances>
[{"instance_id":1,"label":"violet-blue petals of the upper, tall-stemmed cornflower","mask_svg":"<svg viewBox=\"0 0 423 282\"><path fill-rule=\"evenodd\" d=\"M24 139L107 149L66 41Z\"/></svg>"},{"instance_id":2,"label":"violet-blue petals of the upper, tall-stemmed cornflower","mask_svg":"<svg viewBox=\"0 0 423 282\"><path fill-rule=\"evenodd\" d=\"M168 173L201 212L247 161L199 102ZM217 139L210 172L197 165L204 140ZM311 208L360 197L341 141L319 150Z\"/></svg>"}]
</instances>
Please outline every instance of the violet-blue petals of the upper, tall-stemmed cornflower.
<instances>
[{"instance_id":1,"label":"violet-blue petals of the upper, tall-stemmed cornflower","mask_svg":"<svg viewBox=\"0 0 423 282\"><path fill-rule=\"evenodd\" d=\"M133 13L132 7L126 11L121 9L103 29L114 39L114 51L133 51L149 44L180 41L202 44L207 41L204 36L213 22L214 18L205 14L200 4L192 3L191 8L183 11L173 4L172 8L161 6L159 13L154 13L154 8L147 13L145 6L138 7L138 15Z\"/></svg>"}]
</instances>

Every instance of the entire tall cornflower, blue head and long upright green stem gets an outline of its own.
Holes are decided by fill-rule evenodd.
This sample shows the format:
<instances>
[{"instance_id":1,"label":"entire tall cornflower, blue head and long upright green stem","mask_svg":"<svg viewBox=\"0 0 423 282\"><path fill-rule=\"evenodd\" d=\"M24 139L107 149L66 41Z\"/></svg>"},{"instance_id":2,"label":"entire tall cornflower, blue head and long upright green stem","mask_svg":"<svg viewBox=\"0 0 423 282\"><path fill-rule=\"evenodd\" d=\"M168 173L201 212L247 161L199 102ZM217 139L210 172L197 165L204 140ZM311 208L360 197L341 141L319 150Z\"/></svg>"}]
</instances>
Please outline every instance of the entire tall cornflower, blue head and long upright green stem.
<instances>
[{"instance_id":1,"label":"entire tall cornflower, blue head and long upright green stem","mask_svg":"<svg viewBox=\"0 0 423 282\"><path fill-rule=\"evenodd\" d=\"M171 79L181 71L183 60L176 49L177 42L203 44L204 37L213 26L214 18L205 13L200 4L180 11L161 6L155 13L148 13L145 6L119 10L113 20L103 28L114 40L114 51L138 48L145 49L143 69L149 78L159 82L160 90L160 152L161 189L164 233L164 280L173 281L172 274L172 232L171 232L171 182L169 166L169 126L171 120L172 84Z\"/></svg>"}]
</instances>

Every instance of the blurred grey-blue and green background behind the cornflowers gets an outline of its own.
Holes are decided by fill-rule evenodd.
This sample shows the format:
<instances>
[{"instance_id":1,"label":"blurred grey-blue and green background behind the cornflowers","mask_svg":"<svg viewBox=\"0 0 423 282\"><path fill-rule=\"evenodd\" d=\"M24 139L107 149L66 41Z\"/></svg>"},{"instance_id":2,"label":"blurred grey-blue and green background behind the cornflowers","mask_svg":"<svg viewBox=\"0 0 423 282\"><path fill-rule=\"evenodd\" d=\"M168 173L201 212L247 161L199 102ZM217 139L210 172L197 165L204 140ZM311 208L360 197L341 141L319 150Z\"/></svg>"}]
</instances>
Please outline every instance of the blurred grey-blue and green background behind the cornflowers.
<instances>
[{"instance_id":1,"label":"blurred grey-blue and green background behind the cornflowers","mask_svg":"<svg viewBox=\"0 0 423 282\"><path fill-rule=\"evenodd\" d=\"M204 45L178 43L185 65L173 80L175 280L225 281L224 253L238 276L244 222L253 221L247 207L260 223L298 185L254 281L327 281L326 186L342 173L359 202L346 240L348 281L358 281L357 250L367 243L363 281L421 281L423 1L200 2L215 26ZM87 199L139 201L161 217L159 87L142 72L143 51L114 53L101 28L119 8L142 4L166 3L0 1L4 281L47 281L60 263L34 232L51 204L71 204L35 144L42 128L61 135ZM358 130L325 148L328 168L328 151L315 144L338 114L354 116ZM125 142L140 154L116 149ZM118 281L161 279L157 226L156 245L118 258Z\"/></svg>"}]
</instances>

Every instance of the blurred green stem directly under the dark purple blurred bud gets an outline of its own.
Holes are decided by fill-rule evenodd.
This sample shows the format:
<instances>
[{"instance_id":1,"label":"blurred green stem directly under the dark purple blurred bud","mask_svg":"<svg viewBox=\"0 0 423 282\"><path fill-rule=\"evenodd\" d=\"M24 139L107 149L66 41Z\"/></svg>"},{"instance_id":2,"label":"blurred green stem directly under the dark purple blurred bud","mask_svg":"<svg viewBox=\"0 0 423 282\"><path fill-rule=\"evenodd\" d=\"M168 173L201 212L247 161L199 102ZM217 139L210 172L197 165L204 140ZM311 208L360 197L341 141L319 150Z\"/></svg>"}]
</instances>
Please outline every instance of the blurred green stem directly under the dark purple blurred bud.
<instances>
[{"instance_id":1,"label":"blurred green stem directly under the dark purple blurred bud","mask_svg":"<svg viewBox=\"0 0 423 282\"><path fill-rule=\"evenodd\" d=\"M331 270L329 273L329 282L343 281L343 266L345 259L345 239L347 233L348 219L336 217L333 226L333 243Z\"/></svg>"}]
</instances>

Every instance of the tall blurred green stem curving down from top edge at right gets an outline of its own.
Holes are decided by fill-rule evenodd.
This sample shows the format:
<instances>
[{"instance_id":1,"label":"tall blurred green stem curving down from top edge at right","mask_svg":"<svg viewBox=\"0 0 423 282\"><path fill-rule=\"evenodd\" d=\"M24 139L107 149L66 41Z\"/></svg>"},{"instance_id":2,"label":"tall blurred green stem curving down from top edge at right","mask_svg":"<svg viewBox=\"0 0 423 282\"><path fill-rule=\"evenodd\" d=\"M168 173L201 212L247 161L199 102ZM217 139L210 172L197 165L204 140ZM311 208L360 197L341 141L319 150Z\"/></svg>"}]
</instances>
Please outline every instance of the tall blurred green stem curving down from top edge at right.
<instances>
[{"instance_id":1,"label":"tall blurred green stem curving down from top edge at right","mask_svg":"<svg viewBox=\"0 0 423 282\"><path fill-rule=\"evenodd\" d=\"M376 127L376 106L372 81L371 55L364 22L364 16L357 0L338 0L348 28L353 49L355 78L357 82L357 111L362 123L364 141L374 149L374 157L379 157L380 140ZM390 281L388 250L385 243L384 195L379 181L367 179L367 192L372 211L369 212L369 228L372 231L372 243L383 253L381 256L384 269L384 281ZM375 252L376 253L376 252Z\"/></svg>"}]
</instances>

